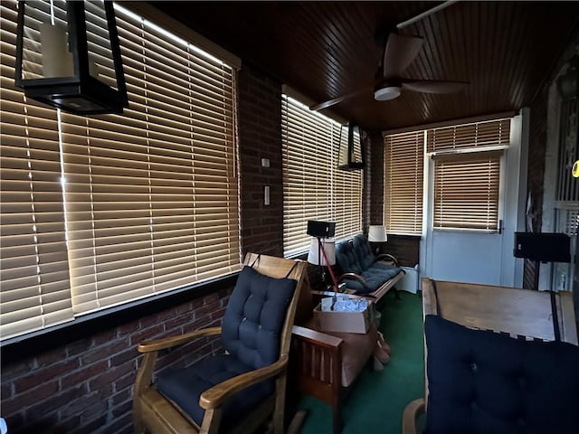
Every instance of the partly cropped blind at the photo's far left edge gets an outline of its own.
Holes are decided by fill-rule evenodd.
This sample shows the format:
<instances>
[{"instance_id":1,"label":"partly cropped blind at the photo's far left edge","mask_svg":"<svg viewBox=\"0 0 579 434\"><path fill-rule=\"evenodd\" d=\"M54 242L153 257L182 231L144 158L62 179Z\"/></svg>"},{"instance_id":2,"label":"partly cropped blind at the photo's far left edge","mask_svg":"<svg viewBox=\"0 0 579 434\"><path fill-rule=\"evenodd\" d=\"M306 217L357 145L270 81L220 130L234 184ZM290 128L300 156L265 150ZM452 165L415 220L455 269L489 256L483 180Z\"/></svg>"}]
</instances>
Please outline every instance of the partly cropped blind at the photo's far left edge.
<instances>
[{"instance_id":1,"label":"partly cropped blind at the photo's far left edge","mask_svg":"<svg viewBox=\"0 0 579 434\"><path fill-rule=\"evenodd\" d=\"M72 319L58 119L14 87L16 3L0 5L0 335Z\"/></svg>"}]
</instances>

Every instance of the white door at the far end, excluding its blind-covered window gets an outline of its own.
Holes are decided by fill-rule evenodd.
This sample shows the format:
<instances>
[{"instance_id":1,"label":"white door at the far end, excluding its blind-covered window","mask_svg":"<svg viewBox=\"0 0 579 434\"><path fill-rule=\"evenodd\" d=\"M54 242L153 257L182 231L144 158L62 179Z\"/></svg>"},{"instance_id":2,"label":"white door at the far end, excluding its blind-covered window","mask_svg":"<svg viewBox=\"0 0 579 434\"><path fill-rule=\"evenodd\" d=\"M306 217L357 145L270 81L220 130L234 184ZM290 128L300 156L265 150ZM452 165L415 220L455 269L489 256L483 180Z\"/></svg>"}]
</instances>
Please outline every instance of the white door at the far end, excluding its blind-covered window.
<instances>
[{"instance_id":1,"label":"white door at the far end, excluding its blind-covered window","mask_svg":"<svg viewBox=\"0 0 579 434\"><path fill-rule=\"evenodd\" d=\"M521 287L523 261L513 254L515 231L525 231L527 191L526 111L511 121L510 144L501 157L501 231L434 231L433 163L425 161L425 216L421 242L422 276L439 280Z\"/></svg>"}]
</instances>

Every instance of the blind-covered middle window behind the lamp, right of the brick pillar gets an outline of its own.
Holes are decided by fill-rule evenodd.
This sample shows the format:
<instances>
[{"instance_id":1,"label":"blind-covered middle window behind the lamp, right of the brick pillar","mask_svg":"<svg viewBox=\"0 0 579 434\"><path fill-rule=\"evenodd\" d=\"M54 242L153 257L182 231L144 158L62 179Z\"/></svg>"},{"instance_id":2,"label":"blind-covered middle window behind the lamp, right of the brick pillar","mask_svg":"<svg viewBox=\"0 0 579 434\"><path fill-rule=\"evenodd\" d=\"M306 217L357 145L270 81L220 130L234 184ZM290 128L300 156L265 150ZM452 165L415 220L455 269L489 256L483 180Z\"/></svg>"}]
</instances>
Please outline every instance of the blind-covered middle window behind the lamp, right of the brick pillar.
<instances>
[{"instance_id":1,"label":"blind-covered middle window behind the lamp, right of the brick pillar","mask_svg":"<svg viewBox=\"0 0 579 434\"><path fill-rule=\"evenodd\" d=\"M336 222L336 238L362 231L362 172L337 169L340 124L283 96L284 255L308 250L308 220Z\"/></svg>"}]
</instances>

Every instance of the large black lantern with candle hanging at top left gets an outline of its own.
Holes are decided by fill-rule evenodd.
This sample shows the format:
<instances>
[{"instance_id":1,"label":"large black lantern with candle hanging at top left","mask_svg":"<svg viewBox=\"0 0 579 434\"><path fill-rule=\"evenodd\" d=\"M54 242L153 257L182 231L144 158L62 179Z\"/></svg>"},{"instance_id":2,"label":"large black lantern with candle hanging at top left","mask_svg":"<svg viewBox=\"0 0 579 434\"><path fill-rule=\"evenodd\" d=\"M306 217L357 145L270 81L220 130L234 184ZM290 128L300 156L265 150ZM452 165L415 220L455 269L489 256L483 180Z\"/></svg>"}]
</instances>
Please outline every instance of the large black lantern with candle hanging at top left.
<instances>
[{"instance_id":1,"label":"large black lantern with candle hanging at top left","mask_svg":"<svg viewBox=\"0 0 579 434\"><path fill-rule=\"evenodd\" d=\"M76 115L128 107L114 7L109 1L20 1L15 85Z\"/></svg>"}]
</instances>

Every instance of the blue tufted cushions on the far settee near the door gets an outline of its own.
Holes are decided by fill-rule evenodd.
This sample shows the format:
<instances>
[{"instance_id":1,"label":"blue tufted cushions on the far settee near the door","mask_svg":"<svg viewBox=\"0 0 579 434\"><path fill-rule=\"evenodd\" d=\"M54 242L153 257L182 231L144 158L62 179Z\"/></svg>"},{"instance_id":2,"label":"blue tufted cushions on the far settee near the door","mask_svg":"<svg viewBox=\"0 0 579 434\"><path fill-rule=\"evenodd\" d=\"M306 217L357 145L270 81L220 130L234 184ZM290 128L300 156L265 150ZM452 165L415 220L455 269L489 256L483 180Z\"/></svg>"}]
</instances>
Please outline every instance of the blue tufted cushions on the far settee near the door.
<instances>
[{"instance_id":1,"label":"blue tufted cushions on the far settee near the door","mask_svg":"<svg viewBox=\"0 0 579 434\"><path fill-rule=\"evenodd\" d=\"M376 262L364 235L356 235L352 242L342 241L336 246L337 265L345 273L355 273L365 280L365 286L354 279L346 279L346 288L367 294L380 288L400 272L398 267Z\"/></svg>"}]
</instances>

